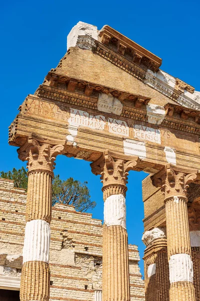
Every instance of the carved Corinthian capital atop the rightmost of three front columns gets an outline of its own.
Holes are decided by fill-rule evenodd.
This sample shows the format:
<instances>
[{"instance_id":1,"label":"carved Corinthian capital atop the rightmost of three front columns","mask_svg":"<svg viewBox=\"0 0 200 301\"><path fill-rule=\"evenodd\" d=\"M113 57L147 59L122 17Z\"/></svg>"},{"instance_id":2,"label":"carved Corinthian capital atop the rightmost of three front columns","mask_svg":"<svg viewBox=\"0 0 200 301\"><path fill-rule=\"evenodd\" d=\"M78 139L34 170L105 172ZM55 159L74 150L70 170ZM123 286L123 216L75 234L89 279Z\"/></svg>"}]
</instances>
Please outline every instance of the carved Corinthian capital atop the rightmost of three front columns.
<instances>
[{"instance_id":1,"label":"carved Corinthian capital atop the rightmost of three front columns","mask_svg":"<svg viewBox=\"0 0 200 301\"><path fill-rule=\"evenodd\" d=\"M184 170L171 164L166 165L161 171L151 176L152 184L155 187L161 187L164 199L173 197L187 197L187 188L189 183L196 179L197 170Z\"/></svg>"}]
</instances>

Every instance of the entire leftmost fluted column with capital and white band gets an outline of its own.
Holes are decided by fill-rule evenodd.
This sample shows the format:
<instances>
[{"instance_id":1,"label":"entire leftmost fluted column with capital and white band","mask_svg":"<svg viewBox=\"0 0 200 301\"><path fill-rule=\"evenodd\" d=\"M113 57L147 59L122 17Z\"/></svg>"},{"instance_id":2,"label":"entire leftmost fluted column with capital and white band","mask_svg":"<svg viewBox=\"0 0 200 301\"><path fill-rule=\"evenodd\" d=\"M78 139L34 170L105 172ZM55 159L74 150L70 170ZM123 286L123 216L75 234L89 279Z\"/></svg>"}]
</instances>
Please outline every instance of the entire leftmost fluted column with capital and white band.
<instances>
[{"instance_id":1,"label":"entire leftmost fluted column with capital and white band","mask_svg":"<svg viewBox=\"0 0 200 301\"><path fill-rule=\"evenodd\" d=\"M39 144L29 139L18 149L18 157L27 161L28 188L26 226L23 246L20 300L49 299L49 243L51 194L54 160L62 145Z\"/></svg>"}]
</instances>

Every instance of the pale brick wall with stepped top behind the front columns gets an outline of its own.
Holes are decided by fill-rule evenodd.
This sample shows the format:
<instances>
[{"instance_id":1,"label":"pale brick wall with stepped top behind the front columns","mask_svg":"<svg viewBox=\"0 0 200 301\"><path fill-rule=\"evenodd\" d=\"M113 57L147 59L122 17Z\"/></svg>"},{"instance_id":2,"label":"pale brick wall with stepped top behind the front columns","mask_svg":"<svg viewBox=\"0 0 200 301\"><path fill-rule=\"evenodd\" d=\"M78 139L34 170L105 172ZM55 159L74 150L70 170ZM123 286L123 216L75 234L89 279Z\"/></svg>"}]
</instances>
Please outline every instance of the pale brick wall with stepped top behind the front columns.
<instances>
[{"instance_id":1,"label":"pale brick wall with stepped top behind the front columns","mask_svg":"<svg viewBox=\"0 0 200 301\"><path fill-rule=\"evenodd\" d=\"M25 200L24 190L0 179L0 254L22 254ZM144 301L137 247L129 245L128 253L131 301ZM49 267L51 300L94 300L94 290L101 289L102 282L101 221L72 206L55 205Z\"/></svg>"}]
</instances>

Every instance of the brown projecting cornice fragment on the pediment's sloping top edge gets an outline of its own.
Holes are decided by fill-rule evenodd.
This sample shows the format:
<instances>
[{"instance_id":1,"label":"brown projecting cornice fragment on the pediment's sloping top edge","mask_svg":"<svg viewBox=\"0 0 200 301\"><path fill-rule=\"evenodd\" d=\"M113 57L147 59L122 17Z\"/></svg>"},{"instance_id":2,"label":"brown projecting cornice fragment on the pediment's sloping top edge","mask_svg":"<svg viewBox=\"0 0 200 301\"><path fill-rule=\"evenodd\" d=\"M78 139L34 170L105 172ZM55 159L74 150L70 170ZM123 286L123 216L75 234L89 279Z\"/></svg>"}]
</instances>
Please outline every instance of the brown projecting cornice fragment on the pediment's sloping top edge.
<instances>
[{"instance_id":1,"label":"brown projecting cornice fragment on the pediment's sloping top edge","mask_svg":"<svg viewBox=\"0 0 200 301\"><path fill-rule=\"evenodd\" d=\"M120 55L130 55L130 58L135 64L141 64L153 72L156 72L161 65L162 60L156 55L124 37L107 25L99 31L99 38L102 44L108 47L115 46L116 52Z\"/></svg>"}]
</instances>

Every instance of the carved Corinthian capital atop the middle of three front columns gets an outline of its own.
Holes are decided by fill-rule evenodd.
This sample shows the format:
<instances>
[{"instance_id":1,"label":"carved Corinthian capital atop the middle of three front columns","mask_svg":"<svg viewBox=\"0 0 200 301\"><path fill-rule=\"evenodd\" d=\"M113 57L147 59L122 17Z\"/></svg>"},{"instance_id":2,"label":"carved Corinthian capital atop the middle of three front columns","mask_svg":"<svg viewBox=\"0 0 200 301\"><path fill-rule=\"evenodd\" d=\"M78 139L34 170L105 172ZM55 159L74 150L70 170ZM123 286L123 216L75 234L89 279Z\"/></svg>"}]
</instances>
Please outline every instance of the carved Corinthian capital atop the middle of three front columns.
<instances>
[{"instance_id":1,"label":"carved Corinthian capital atop the middle of three front columns","mask_svg":"<svg viewBox=\"0 0 200 301\"><path fill-rule=\"evenodd\" d=\"M131 159L131 160L128 160ZM119 156L115 153L105 150L101 157L91 163L91 171L94 175L100 175L101 183L103 184L102 191L108 187L113 188L113 193L121 192L125 195L127 190L127 176L130 170L138 170L136 168L139 162L138 157ZM118 190L117 190L118 189ZM114 191L116 193L114 193ZM118 193L117 193L118 192Z\"/></svg>"}]
</instances>

